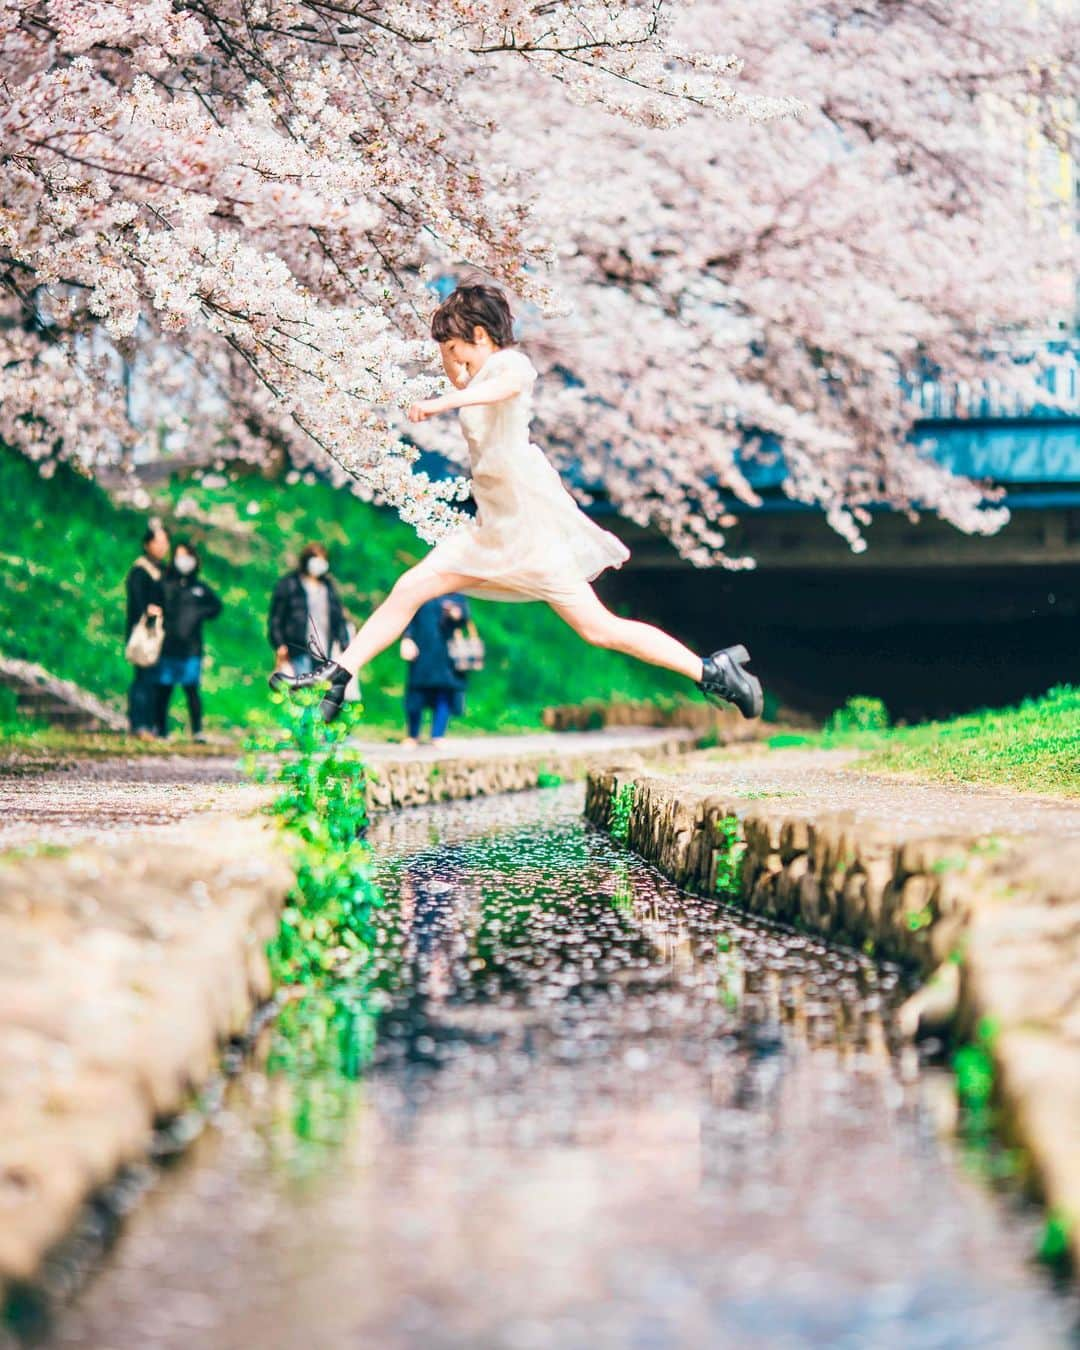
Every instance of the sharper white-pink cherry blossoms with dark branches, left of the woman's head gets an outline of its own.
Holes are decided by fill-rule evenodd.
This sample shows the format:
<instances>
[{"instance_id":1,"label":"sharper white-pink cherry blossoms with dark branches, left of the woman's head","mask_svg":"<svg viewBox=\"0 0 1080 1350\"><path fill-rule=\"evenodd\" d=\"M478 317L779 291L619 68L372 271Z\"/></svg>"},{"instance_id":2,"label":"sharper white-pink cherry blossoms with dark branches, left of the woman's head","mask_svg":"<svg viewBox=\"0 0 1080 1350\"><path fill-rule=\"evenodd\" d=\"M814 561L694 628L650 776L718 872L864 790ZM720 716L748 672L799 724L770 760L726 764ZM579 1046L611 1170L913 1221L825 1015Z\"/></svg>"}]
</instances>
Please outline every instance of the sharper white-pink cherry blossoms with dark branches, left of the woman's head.
<instances>
[{"instance_id":1,"label":"sharper white-pink cherry blossoms with dark branches, left of the woman's head","mask_svg":"<svg viewBox=\"0 0 1080 1350\"><path fill-rule=\"evenodd\" d=\"M428 536L466 487L396 429L432 387L425 269L548 302L528 184L487 154L501 107L788 108L660 4L5 0L0 43L0 436L88 464L162 425L317 451Z\"/></svg>"}]
</instances>

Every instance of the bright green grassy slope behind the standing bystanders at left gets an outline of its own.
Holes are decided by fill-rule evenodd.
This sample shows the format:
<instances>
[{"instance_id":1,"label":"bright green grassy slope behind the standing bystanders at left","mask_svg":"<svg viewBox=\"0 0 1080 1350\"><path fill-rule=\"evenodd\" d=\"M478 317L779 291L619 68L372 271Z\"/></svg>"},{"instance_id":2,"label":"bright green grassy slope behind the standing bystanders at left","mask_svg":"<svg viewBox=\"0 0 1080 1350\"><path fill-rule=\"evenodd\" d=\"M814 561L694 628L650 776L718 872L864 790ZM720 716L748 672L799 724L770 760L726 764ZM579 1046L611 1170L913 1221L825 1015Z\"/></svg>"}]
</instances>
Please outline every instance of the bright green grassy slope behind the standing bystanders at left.
<instances>
[{"instance_id":1,"label":"bright green grassy slope behind the standing bystanders at left","mask_svg":"<svg viewBox=\"0 0 1080 1350\"><path fill-rule=\"evenodd\" d=\"M329 548L354 621L424 554L396 516L320 482L234 475L207 486L189 479L136 512L70 468L45 479L0 448L0 652L39 662L100 695L126 693L123 585L153 512L166 518L174 537L198 545L202 574L224 601L221 618L205 630L207 713L217 728L246 725L265 709L270 591L308 540ZM477 602L475 617L487 668L473 676L462 726L528 728L539 725L551 703L687 691L674 675L587 647L544 605ZM373 726L400 726L404 680L396 649L369 668L364 703ZM180 707L177 698L174 726ZM0 701L0 718L4 713Z\"/></svg>"}]
</instances>

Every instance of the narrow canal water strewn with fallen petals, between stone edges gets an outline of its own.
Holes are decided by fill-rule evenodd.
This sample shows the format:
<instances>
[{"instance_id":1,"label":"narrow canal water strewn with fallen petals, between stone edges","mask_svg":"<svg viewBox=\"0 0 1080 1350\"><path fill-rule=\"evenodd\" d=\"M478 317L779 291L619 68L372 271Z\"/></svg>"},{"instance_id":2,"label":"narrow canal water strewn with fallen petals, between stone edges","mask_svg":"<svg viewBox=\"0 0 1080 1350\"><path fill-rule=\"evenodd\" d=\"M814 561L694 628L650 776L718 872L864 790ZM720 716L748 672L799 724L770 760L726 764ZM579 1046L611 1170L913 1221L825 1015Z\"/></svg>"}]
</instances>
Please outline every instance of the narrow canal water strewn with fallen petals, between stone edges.
<instances>
[{"instance_id":1,"label":"narrow canal water strewn with fallen petals, between stone edges","mask_svg":"<svg viewBox=\"0 0 1080 1350\"><path fill-rule=\"evenodd\" d=\"M1072 1343L1034 1216L894 1042L895 972L682 895L576 788L371 841L374 1045L364 1010L267 1029L51 1346Z\"/></svg>"}]
</instances>

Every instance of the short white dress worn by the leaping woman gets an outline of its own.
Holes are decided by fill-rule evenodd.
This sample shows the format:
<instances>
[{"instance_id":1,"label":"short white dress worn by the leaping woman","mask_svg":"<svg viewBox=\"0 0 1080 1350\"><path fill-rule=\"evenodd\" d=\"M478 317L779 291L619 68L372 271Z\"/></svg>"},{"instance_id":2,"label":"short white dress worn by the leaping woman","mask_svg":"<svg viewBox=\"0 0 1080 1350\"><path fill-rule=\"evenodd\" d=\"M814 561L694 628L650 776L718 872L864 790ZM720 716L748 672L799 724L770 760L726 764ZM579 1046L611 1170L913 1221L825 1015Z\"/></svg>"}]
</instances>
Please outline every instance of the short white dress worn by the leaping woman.
<instances>
[{"instance_id":1,"label":"short white dress worn by the leaping woman","mask_svg":"<svg viewBox=\"0 0 1080 1350\"><path fill-rule=\"evenodd\" d=\"M468 383L506 371L524 377L521 393L458 413L468 443L475 520L441 539L420 566L468 576L462 589L470 595L558 602L605 568L621 567L630 554L585 514L529 440L536 382L529 358L502 347Z\"/></svg>"}]
</instances>

